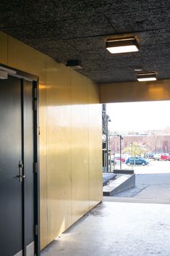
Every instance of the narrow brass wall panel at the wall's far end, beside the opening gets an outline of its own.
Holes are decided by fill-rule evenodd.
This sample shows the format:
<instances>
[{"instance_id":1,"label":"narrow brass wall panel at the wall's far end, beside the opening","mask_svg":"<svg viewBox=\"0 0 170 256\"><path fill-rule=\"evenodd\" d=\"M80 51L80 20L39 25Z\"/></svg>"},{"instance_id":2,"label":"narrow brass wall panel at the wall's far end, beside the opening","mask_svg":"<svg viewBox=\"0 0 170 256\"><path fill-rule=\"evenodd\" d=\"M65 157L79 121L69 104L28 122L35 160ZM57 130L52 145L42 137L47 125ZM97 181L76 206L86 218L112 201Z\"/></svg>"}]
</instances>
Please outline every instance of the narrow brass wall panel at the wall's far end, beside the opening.
<instances>
[{"instance_id":1,"label":"narrow brass wall panel at the wall's far end, beside the opening","mask_svg":"<svg viewBox=\"0 0 170 256\"><path fill-rule=\"evenodd\" d=\"M98 86L89 80L89 191L90 209L103 197L101 162L102 130L101 104L98 104Z\"/></svg>"}]
</instances>

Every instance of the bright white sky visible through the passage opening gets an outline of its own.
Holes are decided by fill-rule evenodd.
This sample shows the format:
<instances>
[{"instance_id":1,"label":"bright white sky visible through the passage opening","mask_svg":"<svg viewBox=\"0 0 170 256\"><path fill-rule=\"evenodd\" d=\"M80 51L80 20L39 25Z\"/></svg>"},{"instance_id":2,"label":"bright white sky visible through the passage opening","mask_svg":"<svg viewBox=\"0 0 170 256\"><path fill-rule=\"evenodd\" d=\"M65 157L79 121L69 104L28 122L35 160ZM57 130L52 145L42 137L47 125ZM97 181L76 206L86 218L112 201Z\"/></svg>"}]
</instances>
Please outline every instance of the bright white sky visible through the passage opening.
<instances>
[{"instance_id":1,"label":"bright white sky visible through the passage opening","mask_svg":"<svg viewBox=\"0 0 170 256\"><path fill-rule=\"evenodd\" d=\"M170 126L170 101L111 103L106 105L111 118L110 131L159 130Z\"/></svg>"}]
</instances>

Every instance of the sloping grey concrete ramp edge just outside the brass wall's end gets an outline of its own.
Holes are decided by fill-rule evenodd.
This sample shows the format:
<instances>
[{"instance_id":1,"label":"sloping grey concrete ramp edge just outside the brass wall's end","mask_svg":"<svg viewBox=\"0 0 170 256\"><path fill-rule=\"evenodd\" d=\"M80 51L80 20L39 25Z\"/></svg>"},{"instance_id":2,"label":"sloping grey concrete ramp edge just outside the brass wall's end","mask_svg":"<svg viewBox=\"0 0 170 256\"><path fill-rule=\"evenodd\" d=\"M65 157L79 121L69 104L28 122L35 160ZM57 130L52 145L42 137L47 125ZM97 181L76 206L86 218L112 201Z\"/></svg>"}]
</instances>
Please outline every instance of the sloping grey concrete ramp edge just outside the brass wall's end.
<instances>
[{"instance_id":1,"label":"sloping grey concrete ramp edge just outside the brass wall's end","mask_svg":"<svg viewBox=\"0 0 170 256\"><path fill-rule=\"evenodd\" d=\"M103 186L103 196L111 197L116 193L135 186L135 174L117 174L114 180Z\"/></svg>"}]
</instances>

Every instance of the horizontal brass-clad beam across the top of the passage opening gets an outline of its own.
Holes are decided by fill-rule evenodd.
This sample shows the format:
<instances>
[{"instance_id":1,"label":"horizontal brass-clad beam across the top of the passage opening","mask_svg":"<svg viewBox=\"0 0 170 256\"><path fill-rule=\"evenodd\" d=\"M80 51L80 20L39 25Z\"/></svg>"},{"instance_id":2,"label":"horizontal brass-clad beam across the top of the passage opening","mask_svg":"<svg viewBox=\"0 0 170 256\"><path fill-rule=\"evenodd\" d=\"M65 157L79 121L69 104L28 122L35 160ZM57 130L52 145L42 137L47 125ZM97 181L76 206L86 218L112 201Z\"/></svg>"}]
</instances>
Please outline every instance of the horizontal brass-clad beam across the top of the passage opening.
<instances>
[{"instance_id":1,"label":"horizontal brass-clad beam across the top of the passage opening","mask_svg":"<svg viewBox=\"0 0 170 256\"><path fill-rule=\"evenodd\" d=\"M105 83L100 85L100 102L145 102L170 99L170 80Z\"/></svg>"}]
</instances>

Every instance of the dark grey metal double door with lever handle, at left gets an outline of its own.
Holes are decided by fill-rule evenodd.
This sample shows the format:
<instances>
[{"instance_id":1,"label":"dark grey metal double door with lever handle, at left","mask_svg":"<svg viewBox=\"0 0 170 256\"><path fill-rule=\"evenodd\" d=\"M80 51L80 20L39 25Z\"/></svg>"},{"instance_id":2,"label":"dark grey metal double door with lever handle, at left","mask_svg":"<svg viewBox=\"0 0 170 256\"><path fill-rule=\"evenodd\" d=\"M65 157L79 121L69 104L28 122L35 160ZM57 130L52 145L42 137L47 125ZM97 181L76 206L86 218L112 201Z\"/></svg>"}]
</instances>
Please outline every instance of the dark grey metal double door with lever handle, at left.
<instances>
[{"instance_id":1,"label":"dark grey metal double door with lever handle, at left","mask_svg":"<svg viewBox=\"0 0 170 256\"><path fill-rule=\"evenodd\" d=\"M0 255L33 256L33 84L0 80ZM25 176L25 178L22 178Z\"/></svg>"}]
</instances>

